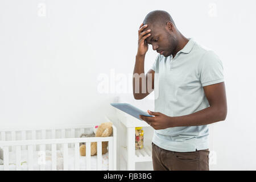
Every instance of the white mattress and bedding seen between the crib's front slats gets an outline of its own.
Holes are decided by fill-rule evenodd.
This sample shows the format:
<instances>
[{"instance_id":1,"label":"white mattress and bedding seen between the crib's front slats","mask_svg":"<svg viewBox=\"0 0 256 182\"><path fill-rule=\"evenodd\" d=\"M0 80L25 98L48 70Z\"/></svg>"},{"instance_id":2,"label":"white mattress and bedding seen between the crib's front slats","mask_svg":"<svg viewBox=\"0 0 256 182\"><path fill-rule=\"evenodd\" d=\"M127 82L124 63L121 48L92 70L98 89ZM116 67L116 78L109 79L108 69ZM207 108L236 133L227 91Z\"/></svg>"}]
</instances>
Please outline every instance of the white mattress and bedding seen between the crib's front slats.
<instances>
[{"instance_id":1,"label":"white mattress and bedding seen between the crib's front slats","mask_svg":"<svg viewBox=\"0 0 256 182\"><path fill-rule=\"evenodd\" d=\"M63 150L56 151L56 167L57 170L63 170ZM45 160L44 160L45 156ZM28 150L21 150L21 170L28 169ZM79 156L80 170L86 170L86 156ZM51 151L33 152L33 170L40 170L40 165L45 165L45 169L50 171L52 169ZM90 170L97 170L97 155L90 156ZM109 169L109 153L102 155L102 170ZM3 170L3 164L0 165L0 171ZM16 170L16 153L9 152L9 170ZM68 170L75 170L75 150L68 148Z\"/></svg>"}]
</instances>

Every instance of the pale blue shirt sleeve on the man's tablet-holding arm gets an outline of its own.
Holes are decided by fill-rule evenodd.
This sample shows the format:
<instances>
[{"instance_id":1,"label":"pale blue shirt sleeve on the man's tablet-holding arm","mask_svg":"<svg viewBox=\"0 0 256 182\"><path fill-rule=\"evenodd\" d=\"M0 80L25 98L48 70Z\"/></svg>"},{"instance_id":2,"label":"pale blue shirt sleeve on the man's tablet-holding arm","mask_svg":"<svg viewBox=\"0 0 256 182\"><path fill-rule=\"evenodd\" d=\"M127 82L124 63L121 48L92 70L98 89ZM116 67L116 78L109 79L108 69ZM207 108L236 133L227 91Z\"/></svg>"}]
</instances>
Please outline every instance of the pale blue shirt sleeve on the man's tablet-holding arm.
<instances>
[{"instance_id":1,"label":"pale blue shirt sleeve on the man's tablet-holding arm","mask_svg":"<svg viewBox=\"0 0 256 182\"><path fill-rule=\"evenodd\" d=\"M202 86L224 81L224 69L221 60L213 51L207 51L199 64L199 75Z\"/></svg>"}]
</instances>

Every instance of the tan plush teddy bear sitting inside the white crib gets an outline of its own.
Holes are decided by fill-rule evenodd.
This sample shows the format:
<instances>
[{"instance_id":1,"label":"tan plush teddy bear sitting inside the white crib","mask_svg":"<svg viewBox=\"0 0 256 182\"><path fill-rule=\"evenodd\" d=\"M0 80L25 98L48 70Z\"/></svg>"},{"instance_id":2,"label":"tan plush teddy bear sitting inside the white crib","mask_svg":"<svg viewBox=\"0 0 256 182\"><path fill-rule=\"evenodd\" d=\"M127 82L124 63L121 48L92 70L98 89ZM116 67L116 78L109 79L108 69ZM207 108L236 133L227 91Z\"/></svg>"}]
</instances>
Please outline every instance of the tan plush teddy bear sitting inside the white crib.
<instances>
[{"instance_id":1,"label":"tan plush teddy bear sitting inside the white crib","mask_svg":"<svg viewBox=\"0 0 256 182\"><path fill-rule=\"evenodd\" d=\"M105 122L101 123L100 126L97 127L95 137L110 137L112 135L112 122ZM108 152L108 142L102 142L102 154L106 154ZM85 144L81 144L80 148L80 155L86 155L86 146ZM97 155L97 142L90 143L90 155Z\"/></svg>"}]
</instances>

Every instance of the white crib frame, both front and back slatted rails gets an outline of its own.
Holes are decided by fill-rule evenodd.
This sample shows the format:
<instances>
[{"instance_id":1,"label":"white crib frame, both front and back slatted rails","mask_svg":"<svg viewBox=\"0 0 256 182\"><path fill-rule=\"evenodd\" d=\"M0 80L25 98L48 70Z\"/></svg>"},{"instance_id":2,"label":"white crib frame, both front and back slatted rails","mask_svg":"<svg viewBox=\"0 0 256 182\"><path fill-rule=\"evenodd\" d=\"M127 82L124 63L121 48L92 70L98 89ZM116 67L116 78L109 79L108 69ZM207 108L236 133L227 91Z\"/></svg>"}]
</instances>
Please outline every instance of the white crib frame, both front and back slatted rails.
<instances>
[{"instance_id":1,"label":"white crib frame, both front and back slatted rails","mask_svg":"<svg viewBox=\"0 0 256 182\"><path fill-rule=\"evenodd\" d=\"M109 121L109 120L107 120ZM94 124L96 125L96 124ZM90 170L90 143L97 142L97 170L102 169L102 142L108 142L109 145L109 170L116 170L116 142L117 142L117 130L113 125L113 137L88 137L88 138L76 138L75 130L80 130L80 133L84 133L84 130L92 125L80 125L80 126L63 126L55 127L52 129L24 129L24 130L9 130L1 129L0 147L3 148L3 162L4 170L9 170L9 151L15 151L16 154L16 170L21 169L21 150L27 148L28 150L28 170L33 170L33 152L45 151L46 146L51 146L51 161L52 170L56 170L56 151L57 145L63 144L63 169L68 170L68 146L72 146L75 149L75 170L79 170L79 143L86 143L86 170ZM38 139L36 131L40 131L41 136ZM61 138L56 138L56 131L61 130ZM68 138L67 130L70 130ZM30 137L27 137L27 131L31 132ZM46 139L46 131L51 131L51 138ZM21 132L21 139L16 140L16 133ZM6 140L6 133L11 133L11 140ZM20 138L20 136L18 137ZM28 139L30 138L30 139ZM36 146L39 146L39 150L36 150ZM40 170L44 170L45 165L40 165Z\"/></svg>"}]
</instances>

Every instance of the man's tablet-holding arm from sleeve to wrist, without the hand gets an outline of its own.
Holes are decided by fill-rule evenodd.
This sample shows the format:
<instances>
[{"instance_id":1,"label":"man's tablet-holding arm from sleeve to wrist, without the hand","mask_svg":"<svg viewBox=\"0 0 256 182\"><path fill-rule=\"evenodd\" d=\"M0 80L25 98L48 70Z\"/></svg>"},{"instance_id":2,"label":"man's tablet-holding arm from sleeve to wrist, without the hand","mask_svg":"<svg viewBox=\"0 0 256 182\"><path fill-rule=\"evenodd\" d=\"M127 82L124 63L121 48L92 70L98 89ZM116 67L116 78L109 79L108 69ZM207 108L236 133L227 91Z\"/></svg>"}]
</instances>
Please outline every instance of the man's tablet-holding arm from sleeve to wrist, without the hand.
<instances>
[{"instance_id":1,"label":"man's tablet-holding arm from sleeve to wrist, without the hand","mask_svg":"<svg viewBox=\"0 0 256 182\"><path fill-rule=\"evenodd\" d=\"M172 123L175 126L197 126L208 125L226 119L228 107L224 82L204 86L203 88L210 106L193 114L171 117L170 124Z\"/></svg>"}]
</instances>

